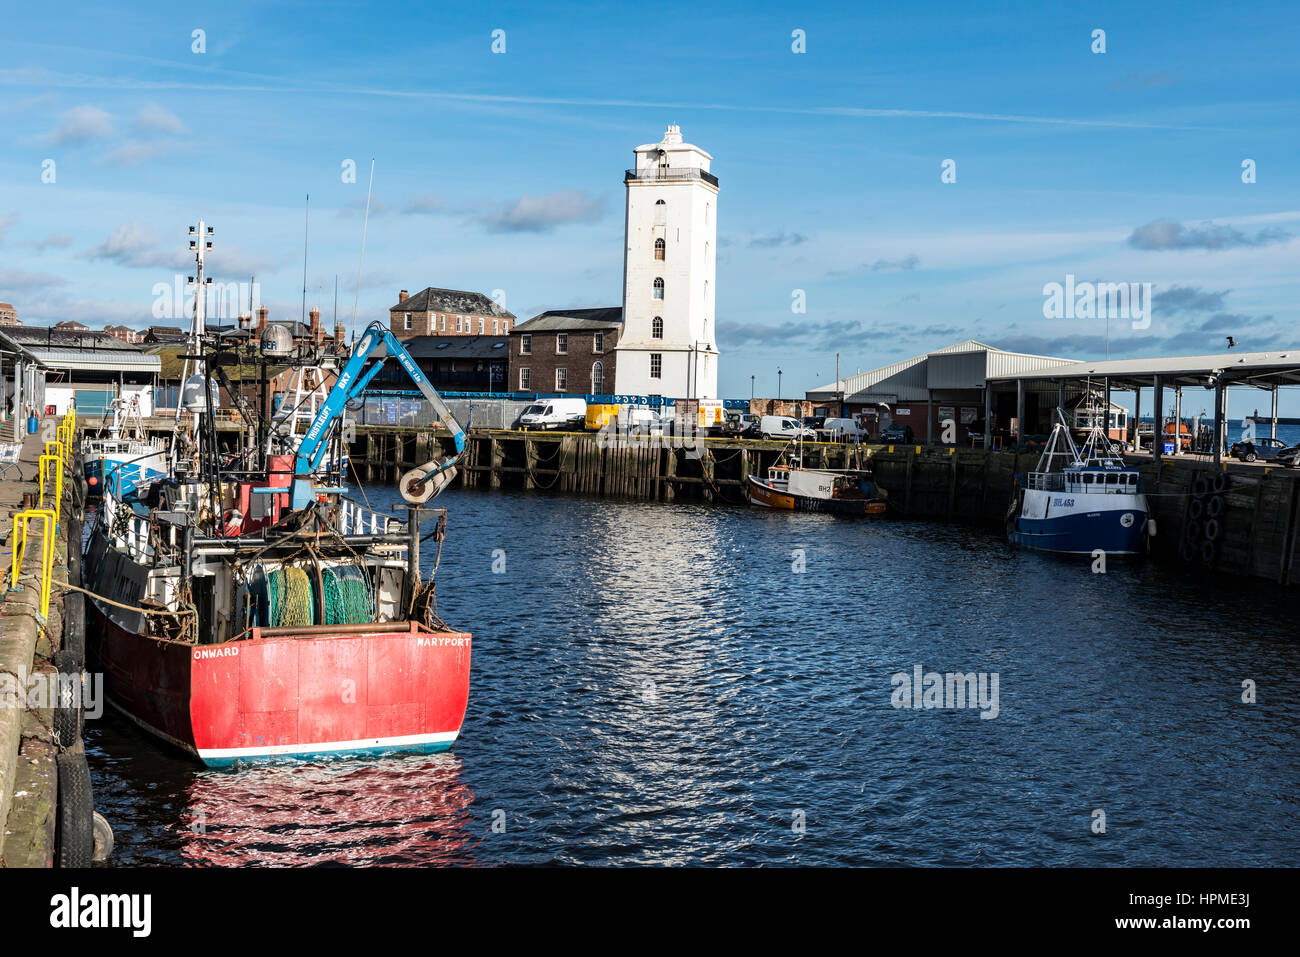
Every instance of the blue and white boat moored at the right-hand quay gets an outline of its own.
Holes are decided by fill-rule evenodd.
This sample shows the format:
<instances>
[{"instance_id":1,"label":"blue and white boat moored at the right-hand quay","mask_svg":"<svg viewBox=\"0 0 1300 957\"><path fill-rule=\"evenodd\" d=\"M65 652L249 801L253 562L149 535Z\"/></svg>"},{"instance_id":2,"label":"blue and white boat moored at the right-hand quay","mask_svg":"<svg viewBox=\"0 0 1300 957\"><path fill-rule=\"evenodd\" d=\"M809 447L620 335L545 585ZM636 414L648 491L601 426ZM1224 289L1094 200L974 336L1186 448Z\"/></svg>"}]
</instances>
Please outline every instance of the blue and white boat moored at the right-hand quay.
<instances>
[{"instance_id":1,"label":"blue and white boat moored at the right-hand quay","mask_svg":"<svg viewBox=\"0 0 1300 957\"><path fill-rule=\"evenodd\" d=\"M1076 445L1063 413L1037 469L1017 476L1006 518L1017 545L1067 555L1135 555L1156 532L1138 469L1100 425Z\"/></svg>"}]
</instances>

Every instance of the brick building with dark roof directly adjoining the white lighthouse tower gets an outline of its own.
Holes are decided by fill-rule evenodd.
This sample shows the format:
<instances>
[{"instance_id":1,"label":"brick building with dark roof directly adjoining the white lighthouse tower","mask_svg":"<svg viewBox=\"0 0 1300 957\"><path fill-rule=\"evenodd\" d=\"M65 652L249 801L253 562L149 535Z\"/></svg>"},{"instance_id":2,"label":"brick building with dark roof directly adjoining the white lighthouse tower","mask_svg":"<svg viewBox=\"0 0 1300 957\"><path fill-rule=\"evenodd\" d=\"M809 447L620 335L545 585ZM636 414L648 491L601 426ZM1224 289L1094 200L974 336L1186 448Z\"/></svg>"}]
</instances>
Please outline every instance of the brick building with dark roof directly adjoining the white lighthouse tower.
<instances>
[{"instance_id":1,"label":"brick building with dark roof directly adjoining the white lighthouse tower","mask_svg":"<svg viewBox=\"0 0 1300 957\"><path fill-rule=\"evenodd\" d=\"M604 395L614 390L623 307L551 309L510 334L510 387L521 393Z\"/></svg>"}]
</instances>

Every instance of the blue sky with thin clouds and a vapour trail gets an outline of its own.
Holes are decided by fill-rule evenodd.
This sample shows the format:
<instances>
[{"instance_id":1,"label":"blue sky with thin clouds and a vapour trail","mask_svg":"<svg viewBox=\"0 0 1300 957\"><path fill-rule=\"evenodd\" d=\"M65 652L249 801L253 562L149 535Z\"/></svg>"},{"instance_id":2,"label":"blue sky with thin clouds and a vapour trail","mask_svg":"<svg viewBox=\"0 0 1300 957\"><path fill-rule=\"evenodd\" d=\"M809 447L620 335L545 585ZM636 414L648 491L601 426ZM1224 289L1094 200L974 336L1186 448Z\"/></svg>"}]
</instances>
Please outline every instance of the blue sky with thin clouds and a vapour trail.
<instances>
[{"instance_id":1,"label":"blue sky with thin clouds and a vapour trail","mask_svg":"<svg viewBox=\"0 0 1300 957\"><path fill-rule=\"evenodd\" d=\"M203 218L208 273L298 319L309 194L326 322L335 277L348 325L429 285L520 319L616 306L623 170L677 124L720 181L724 397L966 338L1300 346L1297 23L1268 1L12 5L0 300L183 325L157 290ZM1150 283L1149 325L1048 317L1067 277Z\"/></svg>"}]
</instances>

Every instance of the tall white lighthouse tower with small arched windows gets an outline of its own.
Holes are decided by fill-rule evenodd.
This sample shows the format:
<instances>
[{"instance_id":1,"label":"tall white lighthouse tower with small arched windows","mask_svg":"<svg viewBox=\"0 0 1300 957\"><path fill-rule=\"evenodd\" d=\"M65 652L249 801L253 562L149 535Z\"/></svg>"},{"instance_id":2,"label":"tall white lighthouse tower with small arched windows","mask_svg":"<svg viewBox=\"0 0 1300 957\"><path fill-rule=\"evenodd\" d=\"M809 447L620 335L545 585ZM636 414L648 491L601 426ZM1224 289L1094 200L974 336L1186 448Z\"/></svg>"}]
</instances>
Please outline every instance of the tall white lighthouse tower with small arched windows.
<instances>
[{"instance_id":1,"label":"tall white lighthouse tower with small arched windows","mask_svg":"<svg viewBox=\"0 0 1300 957\"><path fill-rule=\"evenodd\" d=\"M718 398L714 338L718 177L712 156L681 142L636 150L623 250L623 333L615 389L632 395Z\"/></svg>"}]
</instances>

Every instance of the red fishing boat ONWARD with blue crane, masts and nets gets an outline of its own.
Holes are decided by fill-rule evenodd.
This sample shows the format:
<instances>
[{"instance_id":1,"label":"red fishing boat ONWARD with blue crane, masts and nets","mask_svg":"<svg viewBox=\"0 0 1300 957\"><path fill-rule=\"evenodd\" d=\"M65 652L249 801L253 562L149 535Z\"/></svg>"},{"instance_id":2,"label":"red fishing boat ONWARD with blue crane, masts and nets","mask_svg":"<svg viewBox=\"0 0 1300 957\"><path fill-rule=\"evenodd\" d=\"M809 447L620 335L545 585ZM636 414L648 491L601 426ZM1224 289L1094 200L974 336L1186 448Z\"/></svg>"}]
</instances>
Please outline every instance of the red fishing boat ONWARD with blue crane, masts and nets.
<instances>
[{"instance_id":1,"label":"red fishing boat ONWARD with blue crane, masts and nets","mask_svg":"<svg viewBox=\"0 0 1300 957\"><path fill-rule=\"evenodd\" d=\"M433 537L441 551L446 511L424 505L455 475L464 432L376 322L326 363L347 359L304 434L269 429L263 415L240 451L221 451L212 377L240 356L205 332L202 299L190 351L203 371L182 389L170 472L105 490L82 566L87 651L107 700L212 767L448 749L469 696L471 636L437 616L437 566L421 575L420 544ZM308 360L281 332L263 338L260 361ZM380 346L387 355L374 358ZM400 520L348 499L339 464L346 403L386 358L455 446L403 476Z\"/></svg>"}]
</instances>

